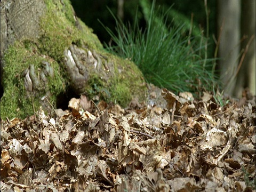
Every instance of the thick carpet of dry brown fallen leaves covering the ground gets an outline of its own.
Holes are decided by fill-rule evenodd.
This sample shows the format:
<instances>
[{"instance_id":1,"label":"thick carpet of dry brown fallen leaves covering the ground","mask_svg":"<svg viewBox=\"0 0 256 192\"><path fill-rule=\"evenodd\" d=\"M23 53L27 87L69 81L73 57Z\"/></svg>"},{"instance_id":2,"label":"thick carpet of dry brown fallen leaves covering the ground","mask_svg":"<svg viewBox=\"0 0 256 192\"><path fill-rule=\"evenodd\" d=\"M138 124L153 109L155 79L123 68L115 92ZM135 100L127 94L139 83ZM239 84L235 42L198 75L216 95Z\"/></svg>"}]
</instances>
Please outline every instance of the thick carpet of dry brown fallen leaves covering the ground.
<instances>
[{"instance_id":1,"label":"thick carpet of dry brown fallen leaves covering the ground","mask_svg":"<svg viewBox=\"0 0 256 192\"><path fill-rule=\"evenodd\" d=\"M159 94L1 120L1 191L255 191L255 97Z\"/></svg>"}]
</instances>

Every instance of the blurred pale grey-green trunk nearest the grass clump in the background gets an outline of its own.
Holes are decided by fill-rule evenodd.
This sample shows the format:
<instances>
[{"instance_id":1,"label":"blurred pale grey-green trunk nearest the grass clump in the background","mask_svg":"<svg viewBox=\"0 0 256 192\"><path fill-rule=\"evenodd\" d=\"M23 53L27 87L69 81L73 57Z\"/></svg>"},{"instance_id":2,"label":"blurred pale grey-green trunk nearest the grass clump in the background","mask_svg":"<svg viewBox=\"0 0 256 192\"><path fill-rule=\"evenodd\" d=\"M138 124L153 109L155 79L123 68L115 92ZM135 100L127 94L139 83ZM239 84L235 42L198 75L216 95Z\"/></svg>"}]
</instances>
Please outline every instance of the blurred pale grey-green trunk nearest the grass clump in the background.
<instances>
[{"instance_id":1,"label":"blurred pale grey-green trunk nearest the grass clump in the background","mask_svg":"<svg viewBox=\"0 0 256 192\"><path fill-rule=\"evenodd\" d=\"M240 0L218 0L220 78L225 93L232 95L240 52Z\"/></svg>"}]
</instances>

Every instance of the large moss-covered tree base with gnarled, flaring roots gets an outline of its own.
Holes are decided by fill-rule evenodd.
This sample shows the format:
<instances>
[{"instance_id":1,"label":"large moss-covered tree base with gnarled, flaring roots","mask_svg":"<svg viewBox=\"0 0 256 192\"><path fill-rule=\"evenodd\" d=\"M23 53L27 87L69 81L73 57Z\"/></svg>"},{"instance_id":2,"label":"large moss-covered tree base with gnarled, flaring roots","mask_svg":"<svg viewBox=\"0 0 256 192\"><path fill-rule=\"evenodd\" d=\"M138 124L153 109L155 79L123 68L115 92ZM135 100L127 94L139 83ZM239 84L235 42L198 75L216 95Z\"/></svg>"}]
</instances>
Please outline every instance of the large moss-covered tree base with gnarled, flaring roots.
<instances>
[{"instance_id":1,"label":"large moss-covered tree base with gnarled, flaring roots","mask_svg":"<svg viewBox=\"0 0 256 192\"><path fill-rule=\"evenodd\" d=\"M2 118L51 110L67 90L122 106L146 91L134 63L107 53L68 0L1 1L1 83Z\"/></svg>"}]
</instances>

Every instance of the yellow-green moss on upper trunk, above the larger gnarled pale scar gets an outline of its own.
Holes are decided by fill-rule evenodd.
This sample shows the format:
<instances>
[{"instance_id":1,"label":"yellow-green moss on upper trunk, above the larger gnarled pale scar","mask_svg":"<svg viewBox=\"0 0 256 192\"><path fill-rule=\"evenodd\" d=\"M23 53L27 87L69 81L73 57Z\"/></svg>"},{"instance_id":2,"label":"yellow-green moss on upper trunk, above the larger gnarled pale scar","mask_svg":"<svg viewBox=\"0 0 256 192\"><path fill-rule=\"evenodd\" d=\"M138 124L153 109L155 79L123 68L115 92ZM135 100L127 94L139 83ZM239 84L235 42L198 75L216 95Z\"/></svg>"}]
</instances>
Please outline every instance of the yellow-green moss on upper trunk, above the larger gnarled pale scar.
<instances>
[{"instance_id":1,"label":"yellow-green moss on upper trunk, above the larger gnarled pale scar","mask_svg":"<svg viewBox=\"0 0 256 192\"><path fill-rule=\"evenodd\" d=\"M78 46L87 46L94 50L103 47L98 37L92 30L84 25L81 20L74 19L73 8L69 1L45 1L47 12L41 19L42 36L39 38L38 47L42 53L49 55L56 61L63 59L64 50L72 43ZM79 27L81 29L79 29Z\"/></svg>"}]
</instances>

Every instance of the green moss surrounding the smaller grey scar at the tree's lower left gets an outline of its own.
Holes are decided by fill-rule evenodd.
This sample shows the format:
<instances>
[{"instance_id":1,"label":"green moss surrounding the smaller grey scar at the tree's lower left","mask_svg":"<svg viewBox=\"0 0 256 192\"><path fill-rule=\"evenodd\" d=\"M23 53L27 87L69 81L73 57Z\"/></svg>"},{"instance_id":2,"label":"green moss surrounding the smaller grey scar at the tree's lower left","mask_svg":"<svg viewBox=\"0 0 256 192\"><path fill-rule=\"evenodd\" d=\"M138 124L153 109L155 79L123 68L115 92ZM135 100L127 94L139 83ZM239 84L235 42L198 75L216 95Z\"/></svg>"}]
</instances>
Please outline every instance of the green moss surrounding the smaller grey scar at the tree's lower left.
<instances>
[{"instance_id":1,"label":"green moss surrounding the smaller grey scar at the tree's lower left","mask_svg":"<svg viewBox=\"0 0 256 192\"><path fill-rule=\"evenodd\" d=\"M34 109L35 111L38 110L41 106L39 98L47 92L58 94L65 90L65 84L62 83L63 78L59 74L58 63L51 58L38 54L35 45L28 40L15 42L11 45L4 55L4 60L3 86L5 89L1 98L1 117L25 118L32 115ZM42 61L51 63L54 69L54 77L47 77L47 83L39 85L33 92L26 91L23 71L29 65L34 65L35 74L39 76ZM49 99L50 102L55 100L55 98Z\"/></svg>"}]
</instances>

